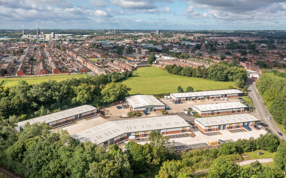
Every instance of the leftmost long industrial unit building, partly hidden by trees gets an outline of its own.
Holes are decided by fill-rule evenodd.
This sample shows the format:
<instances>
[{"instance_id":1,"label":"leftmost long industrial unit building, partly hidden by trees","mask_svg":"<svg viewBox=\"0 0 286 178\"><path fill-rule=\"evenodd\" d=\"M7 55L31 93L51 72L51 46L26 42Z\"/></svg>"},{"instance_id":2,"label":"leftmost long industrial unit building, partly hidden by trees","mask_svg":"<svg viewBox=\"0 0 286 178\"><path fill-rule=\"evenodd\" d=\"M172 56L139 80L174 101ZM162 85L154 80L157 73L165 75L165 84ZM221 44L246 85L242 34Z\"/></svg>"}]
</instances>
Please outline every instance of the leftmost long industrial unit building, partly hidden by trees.
<instances>
[{"instance_id":1,"label":"leftmost long industrial unit building, partly hidden by trees","mask_svg":"<svg viewBox=\"0 0 286 178\"><path fill-rule=\"evenodd\" d=\"M89 117L91 115L96 114L97 108L89 105L83 105L80 107L75 107L71 109L67 109L64 111L52 113L49 115L44 115L41 117L36 117L29 120L24 120L22 122L18 123L18 126L15 128L18 131L23 131L25 124L29 122L30 124L36 123L36 122L45 122L47 125L51 127L56 127L58 125L74 122L75 120Z\"/></svg>"}]
</instances>

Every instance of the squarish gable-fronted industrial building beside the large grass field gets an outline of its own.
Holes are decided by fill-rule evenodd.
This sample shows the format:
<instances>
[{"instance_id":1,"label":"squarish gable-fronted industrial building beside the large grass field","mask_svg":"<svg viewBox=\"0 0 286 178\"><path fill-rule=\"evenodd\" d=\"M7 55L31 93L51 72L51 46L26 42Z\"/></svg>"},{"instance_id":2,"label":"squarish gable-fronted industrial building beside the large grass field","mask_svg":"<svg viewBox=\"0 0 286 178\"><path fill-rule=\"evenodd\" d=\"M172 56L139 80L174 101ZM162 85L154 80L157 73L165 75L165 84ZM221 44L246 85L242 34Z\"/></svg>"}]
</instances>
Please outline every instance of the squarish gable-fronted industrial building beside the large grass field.
<instances>
[{"instance_id":1,"label":"squarish gable-fronted industrial building beside the large grass field","mask_svg":"<svg viewBox=\"0 0 286 178\"><path fill-rule=\"evenodd\" d=\"M153 95L135 95L125 97L126 104L130 106L133 111L162 111L165 109L165 104L155 98Z\"/></svg>"}]
</instances>

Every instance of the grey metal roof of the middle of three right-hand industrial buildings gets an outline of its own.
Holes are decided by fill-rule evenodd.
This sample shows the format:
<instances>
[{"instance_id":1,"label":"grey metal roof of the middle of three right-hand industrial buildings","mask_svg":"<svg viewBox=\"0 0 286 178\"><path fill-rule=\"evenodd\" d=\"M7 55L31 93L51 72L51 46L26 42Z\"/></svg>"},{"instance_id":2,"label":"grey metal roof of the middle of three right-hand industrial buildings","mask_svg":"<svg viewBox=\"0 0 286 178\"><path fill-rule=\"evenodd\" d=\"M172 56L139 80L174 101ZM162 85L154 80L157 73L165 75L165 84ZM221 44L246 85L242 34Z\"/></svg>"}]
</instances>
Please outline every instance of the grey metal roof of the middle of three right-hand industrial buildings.
<instances>
[{"instance_id":1,"label":"grey metal roof of the middle of three right-hand industrial buildings","mask_svg":"<svg viewBox=\"0 0 286 178\"><path fill-rule=\"evenodd\" d=\"M221 109L244 108L247 106L239 102L232 102L232 103L195 105L193 107L197 108L199 111L213 111L213 110L221 110Z\"/></svg>"}]
</instances>

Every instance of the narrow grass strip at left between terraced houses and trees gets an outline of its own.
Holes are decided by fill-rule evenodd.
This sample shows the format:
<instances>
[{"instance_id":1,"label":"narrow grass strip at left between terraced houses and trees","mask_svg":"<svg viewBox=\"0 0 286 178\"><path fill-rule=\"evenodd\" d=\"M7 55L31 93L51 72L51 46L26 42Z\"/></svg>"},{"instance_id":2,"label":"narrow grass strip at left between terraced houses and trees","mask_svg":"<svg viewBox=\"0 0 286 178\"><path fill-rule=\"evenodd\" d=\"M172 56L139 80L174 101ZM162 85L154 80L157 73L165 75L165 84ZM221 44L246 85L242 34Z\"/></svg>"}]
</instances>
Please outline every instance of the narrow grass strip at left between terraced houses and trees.
<instances>
[{"instance_id":1,"label":"narrow grass strip at left between terraced houses and trees","mask_svg":"<svg viewBox=\"0 0 286 178\"><path fill-rule=\"evenodd\" d=\"M36 76L36 77L5 78L1 86L11 87L13 85L16 85L20 80L26 80L29 83L29 85L31 85L35 83L45 82L47 80L61 81L72 77L74 78L87 77L87 75L90 76L89 74L76 74L76 75L63 74L63 75L48 75L48 76Z\"/></svg>"}]
</instances>

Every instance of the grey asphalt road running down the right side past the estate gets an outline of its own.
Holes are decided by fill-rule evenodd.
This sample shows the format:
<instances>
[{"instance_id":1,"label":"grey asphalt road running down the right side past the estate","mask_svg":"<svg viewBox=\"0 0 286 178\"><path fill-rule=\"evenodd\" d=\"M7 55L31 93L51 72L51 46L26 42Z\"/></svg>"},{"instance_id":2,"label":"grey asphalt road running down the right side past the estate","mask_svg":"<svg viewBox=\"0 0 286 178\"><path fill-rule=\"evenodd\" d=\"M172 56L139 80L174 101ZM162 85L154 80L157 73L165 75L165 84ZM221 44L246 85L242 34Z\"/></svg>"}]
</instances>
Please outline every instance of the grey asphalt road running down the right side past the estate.
<instances>
[{"instance_id":1,"label":"grey asphalt road running down the right side past the estate","mask_svg":"<svg viewBox=\"0 0 286 178\"><path fill-rule=\"evenodd\" d=\"M249 85L250 84L250 85ZM247 85L248 85L248 96L251 98L253 102L254 107L254 116L258 119L262 120L263 126L267 127L269 130L271 130L274 134L278 135L279 128L275 124L273 117L267 110L266 106L263 104L262 97L258 94L257 89L255 88L255 83L248 78L247 79ZM267 116L271 117L271 120L267 119ZM280 131L281 132L281 131ZM286 136L283 134L283 136L278 135L280 138L286 140Z\"/></svg>"}]
</instances>

